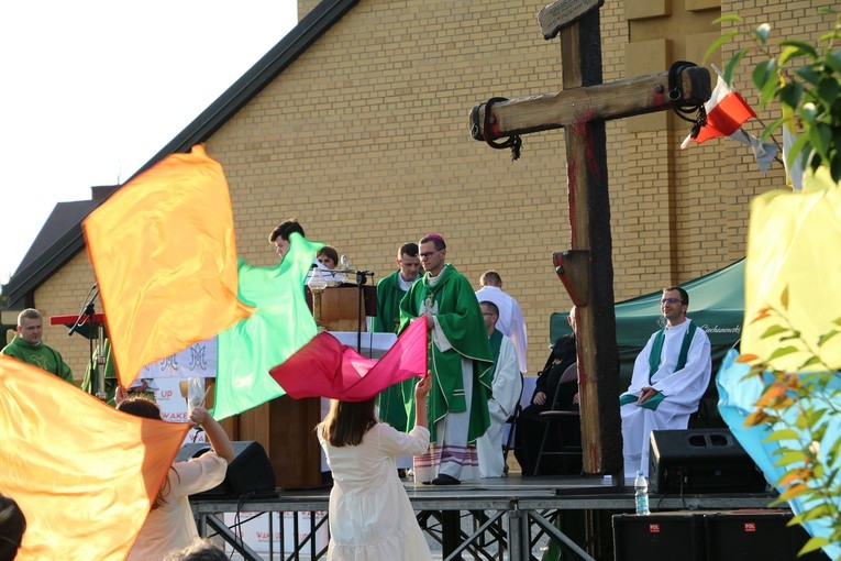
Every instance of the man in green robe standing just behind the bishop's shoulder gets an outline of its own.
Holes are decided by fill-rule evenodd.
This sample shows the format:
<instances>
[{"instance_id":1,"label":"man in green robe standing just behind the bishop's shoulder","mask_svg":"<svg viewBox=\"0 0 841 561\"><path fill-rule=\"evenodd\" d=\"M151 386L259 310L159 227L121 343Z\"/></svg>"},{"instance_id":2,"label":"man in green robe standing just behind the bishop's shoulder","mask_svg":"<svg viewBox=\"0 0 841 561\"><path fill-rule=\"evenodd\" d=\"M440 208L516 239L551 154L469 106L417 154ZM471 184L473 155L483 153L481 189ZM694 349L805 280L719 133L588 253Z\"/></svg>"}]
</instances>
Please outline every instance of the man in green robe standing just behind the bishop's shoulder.
<instances>
[{"instance_id":1,"label":"man in green robe standing just behind the bishop's shoulder","mask_svg":"<svg viewBox=\"0 0 841 561\"><path fill-rule=\"evenodd\" d=\"M397 252L397 271L377 283L377 315L374 331L397 333L400 328L400 300L420 278L418 244L405 243ZM407 380L387 387L378 396L379 419L401 432L408 432L409 417L406 403L414 395L414 380Z\"/></svg>"}]
</instances>

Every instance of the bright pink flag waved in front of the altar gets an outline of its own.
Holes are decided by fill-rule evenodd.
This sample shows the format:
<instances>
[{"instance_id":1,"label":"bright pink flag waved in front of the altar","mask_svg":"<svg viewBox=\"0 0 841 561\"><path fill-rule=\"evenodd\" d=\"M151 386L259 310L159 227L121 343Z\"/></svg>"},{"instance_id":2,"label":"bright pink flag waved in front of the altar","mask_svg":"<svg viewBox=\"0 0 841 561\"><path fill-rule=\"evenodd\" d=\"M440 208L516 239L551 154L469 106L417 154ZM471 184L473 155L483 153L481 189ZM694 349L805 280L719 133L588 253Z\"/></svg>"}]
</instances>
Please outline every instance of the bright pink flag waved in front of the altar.
<instances>
[{"instance_id":1,"label":"bright pink flag waved in front of the altar","mask_svg":"<svg viewBox=\"0 0 841 561\"><path fill-rule=\"evenodd\" d=\"M287 394L364 402L388 386L427 373L427 322L414 321L379 360L366 359L330 333L319 333L272 377Z\"/></svg>"}]
</instances>

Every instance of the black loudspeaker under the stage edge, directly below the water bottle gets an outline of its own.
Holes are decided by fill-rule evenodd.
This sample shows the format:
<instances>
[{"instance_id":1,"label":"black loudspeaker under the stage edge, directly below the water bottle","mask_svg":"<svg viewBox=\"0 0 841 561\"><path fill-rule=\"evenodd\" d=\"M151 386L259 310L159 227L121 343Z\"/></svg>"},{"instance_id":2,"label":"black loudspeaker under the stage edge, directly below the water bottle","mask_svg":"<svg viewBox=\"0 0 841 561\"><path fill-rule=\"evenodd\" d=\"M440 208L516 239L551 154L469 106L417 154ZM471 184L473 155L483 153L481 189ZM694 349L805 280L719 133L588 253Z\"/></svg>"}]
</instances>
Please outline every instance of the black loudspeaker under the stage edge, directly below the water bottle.
<instances>
[{"instance_id":1,"label":"black loudspeaker under the stage edge, directly below the water bottle","mask_svg":"<svg viewBox=\"0 0 841 561\"><path fill-rule=\"evenodd\" d=\"M613 515L613 559L706 561L704 519L693 513Z\"/></svg>"}]
</instances>

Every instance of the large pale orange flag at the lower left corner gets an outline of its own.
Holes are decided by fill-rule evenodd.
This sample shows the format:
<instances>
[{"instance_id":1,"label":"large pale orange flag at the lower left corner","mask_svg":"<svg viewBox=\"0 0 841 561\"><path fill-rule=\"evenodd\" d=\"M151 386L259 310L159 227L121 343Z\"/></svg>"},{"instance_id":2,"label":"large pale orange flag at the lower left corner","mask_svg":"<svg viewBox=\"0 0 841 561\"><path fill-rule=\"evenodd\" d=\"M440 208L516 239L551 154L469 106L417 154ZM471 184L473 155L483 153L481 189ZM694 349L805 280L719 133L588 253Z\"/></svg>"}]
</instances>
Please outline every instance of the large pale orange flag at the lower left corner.
<instances>
[{"instance_id":1,"label":"large pale orange flag at the lower left corner","mask_svg":"<svg viewBox=\"0 0 841 561\"><path fill-rule=\"evenodd\" d=\"M0 493L26 517L16 559L125 559L187 428L0 355Z\"/></svg>"}]
</instances>

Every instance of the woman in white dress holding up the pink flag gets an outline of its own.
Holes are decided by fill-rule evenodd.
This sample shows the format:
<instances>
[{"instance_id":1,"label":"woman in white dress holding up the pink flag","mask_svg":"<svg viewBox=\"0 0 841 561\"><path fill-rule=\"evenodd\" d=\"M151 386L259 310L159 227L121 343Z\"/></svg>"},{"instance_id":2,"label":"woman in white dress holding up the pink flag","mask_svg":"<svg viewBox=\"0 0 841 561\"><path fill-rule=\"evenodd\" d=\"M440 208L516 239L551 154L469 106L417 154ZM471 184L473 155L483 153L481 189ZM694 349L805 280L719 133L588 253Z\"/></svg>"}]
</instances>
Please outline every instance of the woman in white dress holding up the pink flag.
<instances>
[{"instance_id":1,"label":"woman in white dress holding up the pink flag","mask_svg":"<svg viewBox=\"0 0 841 561\"><path fill-rule=\"evenodd\" d=\"M431 387L429 376L414 387L414 428L408 435L377 420L375 398L333 399L327 418L316 427L333 472L329 561L431 559L395 464L398 455L418 455L429 448Z\"/></svg>"}]
</instances>

